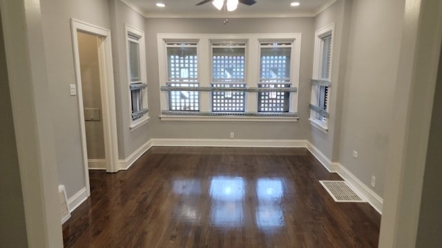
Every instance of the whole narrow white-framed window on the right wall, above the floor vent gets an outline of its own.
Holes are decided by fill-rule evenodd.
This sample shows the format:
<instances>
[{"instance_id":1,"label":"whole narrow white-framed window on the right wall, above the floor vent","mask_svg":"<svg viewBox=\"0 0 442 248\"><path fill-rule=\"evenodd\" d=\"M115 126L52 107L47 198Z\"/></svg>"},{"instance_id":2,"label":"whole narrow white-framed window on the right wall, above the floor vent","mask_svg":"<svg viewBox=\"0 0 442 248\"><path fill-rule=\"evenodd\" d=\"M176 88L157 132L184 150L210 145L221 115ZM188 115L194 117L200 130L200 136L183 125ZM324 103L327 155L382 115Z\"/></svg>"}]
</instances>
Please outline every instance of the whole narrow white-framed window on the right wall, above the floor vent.
<instances>
[{"instance_id":1,"label":"whole narrow white-framed window on the right wall, above the floor vent","mask_svg":"<svg viewBox=\"0 0 442 248\"><path fill-rule=\"evenodd\" d=\"M332 35L334 24L316 31L314 74L311 80L310 121L327 132L329 116L330 68L332 64Z\"/></svg>"}]
</instances>

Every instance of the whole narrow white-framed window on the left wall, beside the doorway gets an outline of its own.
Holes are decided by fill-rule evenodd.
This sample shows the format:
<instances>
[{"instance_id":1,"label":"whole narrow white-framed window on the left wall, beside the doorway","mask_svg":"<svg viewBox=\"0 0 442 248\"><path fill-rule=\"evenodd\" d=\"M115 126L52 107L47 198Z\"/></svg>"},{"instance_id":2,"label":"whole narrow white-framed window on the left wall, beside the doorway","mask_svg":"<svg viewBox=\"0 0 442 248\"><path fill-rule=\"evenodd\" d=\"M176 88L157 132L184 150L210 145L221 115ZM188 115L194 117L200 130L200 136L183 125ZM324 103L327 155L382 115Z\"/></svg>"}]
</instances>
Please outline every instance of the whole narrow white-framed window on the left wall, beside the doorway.
<instances>
[{"instance_id":1,"label":"whole narrow white-framed window on the left wall, beside the doorway","mask_svg":"<svg viewBox=\"0 0 442 248\"><path fill-rule=\"evenodd\" d=\"M131 130L148 119L144 32L126 25L127 70L131 106Z\"/></svg>"}]
</instances>

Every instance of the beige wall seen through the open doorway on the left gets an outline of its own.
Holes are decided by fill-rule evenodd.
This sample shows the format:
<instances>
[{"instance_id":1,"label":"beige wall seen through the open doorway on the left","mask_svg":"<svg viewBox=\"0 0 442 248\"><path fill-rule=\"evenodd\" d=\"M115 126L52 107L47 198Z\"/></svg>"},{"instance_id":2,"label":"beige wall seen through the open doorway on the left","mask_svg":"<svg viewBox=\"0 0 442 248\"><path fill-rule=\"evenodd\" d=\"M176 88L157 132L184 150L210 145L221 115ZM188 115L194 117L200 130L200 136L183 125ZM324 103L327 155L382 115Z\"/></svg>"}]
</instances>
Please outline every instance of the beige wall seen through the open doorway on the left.
<instances>
[{"instance_id":1,"label":"beige wall seen through the open doorway on the left","mask_svg":"<svg viewBox=\"0 0 442 248\"><path fill-rule=\"evenodd\" d=\"M80 57L81 90L83 107L97 108L100 118L86 120L86 146L89 159L104 159L104 132L102 113L102 94L99 85L98 38L92 34L78 32L78 50ZM86 110L85 110L86 113Z\"/></svg>"}]
</instances>

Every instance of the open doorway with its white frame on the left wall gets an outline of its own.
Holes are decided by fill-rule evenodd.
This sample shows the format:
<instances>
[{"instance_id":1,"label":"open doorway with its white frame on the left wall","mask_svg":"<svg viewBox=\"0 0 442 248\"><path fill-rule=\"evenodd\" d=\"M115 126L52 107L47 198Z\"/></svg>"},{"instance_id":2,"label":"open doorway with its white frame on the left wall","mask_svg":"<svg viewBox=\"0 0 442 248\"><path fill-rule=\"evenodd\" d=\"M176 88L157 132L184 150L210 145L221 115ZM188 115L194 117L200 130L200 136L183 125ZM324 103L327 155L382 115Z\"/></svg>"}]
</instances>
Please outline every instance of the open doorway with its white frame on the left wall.
<instances>
[{"instance_id":1,"label":"open doorway with its white frame on the left wall","mask_svg":"<svg viewBox=\"0 0 442 248\"><path fill-rule=\"evenodd\" d=\"M89 169L117 172L117 121L111 32L71 19L86 192Z\"/></svg>"}]
</instances>

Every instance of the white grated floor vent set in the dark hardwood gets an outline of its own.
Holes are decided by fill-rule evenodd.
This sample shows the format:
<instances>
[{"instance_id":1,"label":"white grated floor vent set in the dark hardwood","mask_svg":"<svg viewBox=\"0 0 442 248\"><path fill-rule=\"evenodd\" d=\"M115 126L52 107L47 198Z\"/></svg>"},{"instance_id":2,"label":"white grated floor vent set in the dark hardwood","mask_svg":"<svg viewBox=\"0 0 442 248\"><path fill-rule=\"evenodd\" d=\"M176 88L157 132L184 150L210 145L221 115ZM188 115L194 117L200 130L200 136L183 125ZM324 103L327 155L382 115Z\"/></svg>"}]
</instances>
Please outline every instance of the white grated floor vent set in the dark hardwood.
<instances>
[{"instance_id":1,"label":"white grated floor vent set in the dark hardwood","mask_svg":"<svg viewBox=\"0 0 442 248\"><path fill-rule=\"evenodd\" d=\"M334 201L338 203L365 203L366 200L359 197L353 189L345 183L338 180L320 180L319 183L329 192Z\"/></svg>"}]
</instances>

